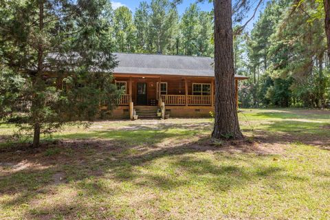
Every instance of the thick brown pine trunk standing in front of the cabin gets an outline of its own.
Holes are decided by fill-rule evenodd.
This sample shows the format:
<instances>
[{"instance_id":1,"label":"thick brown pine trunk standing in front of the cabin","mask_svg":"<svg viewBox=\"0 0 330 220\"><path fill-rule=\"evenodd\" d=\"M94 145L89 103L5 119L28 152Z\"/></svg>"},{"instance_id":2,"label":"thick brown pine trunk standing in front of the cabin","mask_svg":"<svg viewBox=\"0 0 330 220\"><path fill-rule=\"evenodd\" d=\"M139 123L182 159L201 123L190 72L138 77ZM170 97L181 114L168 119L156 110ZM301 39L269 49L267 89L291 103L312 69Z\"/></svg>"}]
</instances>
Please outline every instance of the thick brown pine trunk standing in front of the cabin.
<instances>
[{"instance_id":1,"label":"thick brown pine trunk standing in front of the cabin","mask_svg":"<svg viewBox=\"0 0 330 220\"><path fill-rule=\"evenodd\" d=\"M212 137L242 139L235 102L232 2L214 0L215 120Z\"/></svg>"}]
</instances>

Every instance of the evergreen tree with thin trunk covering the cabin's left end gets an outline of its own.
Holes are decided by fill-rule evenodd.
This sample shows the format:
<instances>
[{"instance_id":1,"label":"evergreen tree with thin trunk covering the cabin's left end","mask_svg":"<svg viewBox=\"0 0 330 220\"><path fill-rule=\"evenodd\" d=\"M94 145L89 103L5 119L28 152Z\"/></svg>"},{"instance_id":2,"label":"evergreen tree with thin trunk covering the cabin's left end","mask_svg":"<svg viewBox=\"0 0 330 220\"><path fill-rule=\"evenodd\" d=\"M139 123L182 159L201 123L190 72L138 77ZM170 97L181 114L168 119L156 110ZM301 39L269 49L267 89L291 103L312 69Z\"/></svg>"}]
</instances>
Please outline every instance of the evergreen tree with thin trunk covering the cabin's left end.
<instances>
[{"instance_id":1,"label":"evergreen tree with thin trunk covering the cabin's left end","mask_svg":"<svg viewBox=\"0 0 330 220\"><path fill-rule=\"evenodd\" d=\"M33 131L34 147L41 133L67 122L94 120L100 103L113 106L118 92L112 83L116 62L107 0L1 3L1 65L24 80L20 96L32 106L27 124L19 126Z\"/></svg>"}]
</instances>

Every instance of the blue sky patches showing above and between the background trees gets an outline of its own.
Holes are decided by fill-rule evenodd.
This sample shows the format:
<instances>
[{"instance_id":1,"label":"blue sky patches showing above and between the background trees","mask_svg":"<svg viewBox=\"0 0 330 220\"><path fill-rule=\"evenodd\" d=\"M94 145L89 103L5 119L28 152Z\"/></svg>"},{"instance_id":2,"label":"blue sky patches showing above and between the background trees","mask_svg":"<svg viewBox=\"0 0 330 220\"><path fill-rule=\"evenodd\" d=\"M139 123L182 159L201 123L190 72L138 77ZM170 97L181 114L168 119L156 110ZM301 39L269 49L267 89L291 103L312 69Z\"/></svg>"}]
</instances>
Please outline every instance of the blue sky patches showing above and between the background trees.
<instances>
[{"instance_id":1,"label":"blue sky patches showing above and between the background trees","mask_svg":"<svg viewBox=\"0 0 330 220\"><path fill-rule=\"evenodd\" d=\"M151 0L111 0L111 4L112 4L112 8L116 9L119 8L120 6L126 6L128 7L131 12L135 12L135 9L139 6L141 1L146 1L148 3L151 2ZM265 0L265 3L269 1L269 0ZM184 11L186 10L186 8L189 7L189 5L191 3L195 3L196 0L184 0L183 3L177 5L177 10L179 12L179 14L183 14ZM257 1L255 1L256 3ZM254 17L254 19L252 19L252 21L250 21L250 23L247 25L246 30L250 31L253 28L253 23L256 22L256 20L259 17L260 12L262 12L265 8L265 3L263 3L262 7L257 11L256 16ZM198 7L202 10L202 11L210 11L213 8L212 3L208 3L208 1L205 1L204 3L198 3ZM250 17L252 17L253 11L248 12L247 14L247 18L245 20L250 19ZM244 21L243 21L244 22Z\"/></svg>"}]
</instances>

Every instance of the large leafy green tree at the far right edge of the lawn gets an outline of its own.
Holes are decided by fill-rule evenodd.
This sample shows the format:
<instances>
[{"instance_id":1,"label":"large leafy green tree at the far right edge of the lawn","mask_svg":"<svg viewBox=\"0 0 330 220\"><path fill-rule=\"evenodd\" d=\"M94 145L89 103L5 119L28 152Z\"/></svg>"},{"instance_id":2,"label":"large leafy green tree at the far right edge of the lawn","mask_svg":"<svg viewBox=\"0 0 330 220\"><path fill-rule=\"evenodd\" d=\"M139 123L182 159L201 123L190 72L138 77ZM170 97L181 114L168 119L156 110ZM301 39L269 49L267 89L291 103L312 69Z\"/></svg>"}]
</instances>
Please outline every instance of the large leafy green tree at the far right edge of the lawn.
<instances>
[{"instance_id":1,"label":"large leafy green tree at the far right edge of the lawn","mask_svg":"<svg viewBox=\"0 0 330 220\"><path fill-rule=\"evenodd\" d=\"M305 106L320 108L325 106L327 87L325 28L321 19L310 20L309 13L318 8L317 3L303 4L305 10L294 16L291 12L283 14L281 32L274 35L270 54L274 57L274 76L293 78L294 96Z\"/></svg>"}]
</instances>

